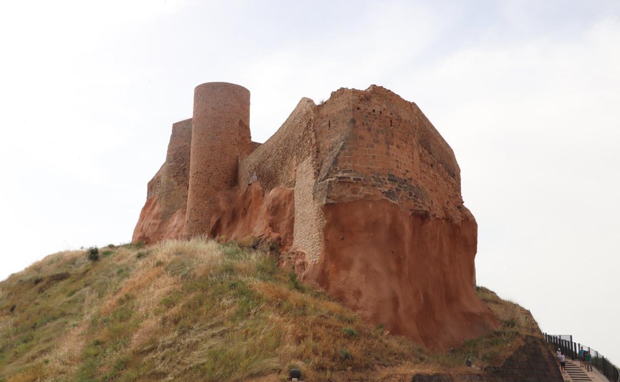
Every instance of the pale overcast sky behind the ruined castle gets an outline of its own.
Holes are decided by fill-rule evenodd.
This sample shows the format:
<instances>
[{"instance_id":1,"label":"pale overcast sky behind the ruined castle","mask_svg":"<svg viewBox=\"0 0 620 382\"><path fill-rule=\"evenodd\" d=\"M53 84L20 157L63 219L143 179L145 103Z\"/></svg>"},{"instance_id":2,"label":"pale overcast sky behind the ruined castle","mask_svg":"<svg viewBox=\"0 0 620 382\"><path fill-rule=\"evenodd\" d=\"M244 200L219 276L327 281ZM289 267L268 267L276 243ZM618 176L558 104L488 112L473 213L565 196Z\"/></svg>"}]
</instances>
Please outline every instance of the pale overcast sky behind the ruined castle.
<instances>
[{"instance_id":1,"label":"pale overcast sky behind the ruined castle","mask_svg":"<svg viewBox=\"0 0 620 382\"><path fill-rule=\"evenodd\" d=\"M247 87L263 142L378 84L454 149L479 284L620 366L617 0L2 1L0 54L0 279L130 241L195 85Z\"/></svg>"}]
</instances>

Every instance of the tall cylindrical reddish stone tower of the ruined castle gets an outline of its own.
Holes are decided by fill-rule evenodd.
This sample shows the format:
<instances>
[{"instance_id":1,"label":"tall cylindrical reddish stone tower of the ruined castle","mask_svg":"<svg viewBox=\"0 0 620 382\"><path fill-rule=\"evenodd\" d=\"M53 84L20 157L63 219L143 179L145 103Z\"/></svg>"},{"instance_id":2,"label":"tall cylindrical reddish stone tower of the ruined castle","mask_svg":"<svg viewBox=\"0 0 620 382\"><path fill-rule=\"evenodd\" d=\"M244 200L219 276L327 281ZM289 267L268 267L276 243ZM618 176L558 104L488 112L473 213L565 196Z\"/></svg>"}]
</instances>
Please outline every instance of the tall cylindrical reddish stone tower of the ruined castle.
<instances>
[{"instance_id":1,"label":"tall cylindrical reddish stone tower of the ruined castle","mask_svg":"<svg viewBox=\"0 0 620 382\"><path fill-rule=\"evenodd\" d=\"M208 233L216 194L237 184L237 163L250 147L250 92L228 82L194 89L185 237Z\"/></svg>"}]
</instances>

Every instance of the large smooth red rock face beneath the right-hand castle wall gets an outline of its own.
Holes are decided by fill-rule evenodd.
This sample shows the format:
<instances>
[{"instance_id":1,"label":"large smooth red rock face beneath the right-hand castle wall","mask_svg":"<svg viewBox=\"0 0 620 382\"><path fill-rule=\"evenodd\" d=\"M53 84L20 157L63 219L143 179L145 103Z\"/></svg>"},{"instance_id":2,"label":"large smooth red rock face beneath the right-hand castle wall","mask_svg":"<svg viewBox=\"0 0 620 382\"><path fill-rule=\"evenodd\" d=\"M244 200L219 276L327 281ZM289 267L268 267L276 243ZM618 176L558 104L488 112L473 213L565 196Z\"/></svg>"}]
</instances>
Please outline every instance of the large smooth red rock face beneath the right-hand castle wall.
<instances>
[{"instance_id":1,"label":"large smooth red rock face beneath the right-hand castle wall","mask_svg":"<svg viewBox=\"0 0 620 382\"><path fill-rule=\"evenodd\" d=\"M495 319L471 287L476 222L410 214L396 203L324 206L319 285L375 323L438 349Z\"/></svg>"}]
</instances>

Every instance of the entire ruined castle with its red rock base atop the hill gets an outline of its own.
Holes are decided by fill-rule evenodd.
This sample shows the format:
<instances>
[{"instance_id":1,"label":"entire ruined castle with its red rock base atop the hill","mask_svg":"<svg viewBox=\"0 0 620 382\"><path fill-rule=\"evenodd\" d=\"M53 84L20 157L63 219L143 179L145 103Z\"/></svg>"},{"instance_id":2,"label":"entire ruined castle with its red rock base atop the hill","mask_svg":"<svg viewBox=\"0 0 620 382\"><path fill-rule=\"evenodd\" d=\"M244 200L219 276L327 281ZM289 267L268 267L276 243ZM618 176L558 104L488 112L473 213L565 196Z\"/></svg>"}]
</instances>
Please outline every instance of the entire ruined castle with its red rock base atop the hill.
<instances>
[{"instance_id":1,"label":"entire ruined castle with its red rock base atop the hill","mask_svg":"<svg viewBox=\"0 0 620 382\"><path fill-rule=\"evenodd\" d=\"M194 96L134 241L257 237L304 281L438 349L497 327L474 292L477 225L456 158L415 103L376 85L303 98L257 144L247 89L211 82Z\"/></svg>"}]
</instances>

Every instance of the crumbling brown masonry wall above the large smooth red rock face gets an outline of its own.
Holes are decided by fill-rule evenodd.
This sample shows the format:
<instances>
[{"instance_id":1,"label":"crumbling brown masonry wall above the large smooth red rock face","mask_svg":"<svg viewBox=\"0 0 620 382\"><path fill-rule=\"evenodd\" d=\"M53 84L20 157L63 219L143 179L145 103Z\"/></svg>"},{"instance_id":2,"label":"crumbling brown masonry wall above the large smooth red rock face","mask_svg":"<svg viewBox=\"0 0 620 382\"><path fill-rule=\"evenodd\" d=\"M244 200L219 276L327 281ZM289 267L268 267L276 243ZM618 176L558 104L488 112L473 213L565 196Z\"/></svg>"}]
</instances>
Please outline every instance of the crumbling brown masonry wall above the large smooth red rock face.
<instances>
[{"instance_id":1,"label":"crumbling brown masonry wall above the large smooth red rock face","mask_svg":"<svg viewBox=\"0 0 620 382\"><path fill-rule=\"evenodd\" d=\"M325 174L327 202L386 198L405 211L472 219L456 158L417 105L376 86L347 94L350 131Z\"/></svg>"}]
</instances>

